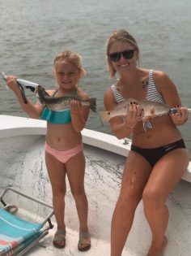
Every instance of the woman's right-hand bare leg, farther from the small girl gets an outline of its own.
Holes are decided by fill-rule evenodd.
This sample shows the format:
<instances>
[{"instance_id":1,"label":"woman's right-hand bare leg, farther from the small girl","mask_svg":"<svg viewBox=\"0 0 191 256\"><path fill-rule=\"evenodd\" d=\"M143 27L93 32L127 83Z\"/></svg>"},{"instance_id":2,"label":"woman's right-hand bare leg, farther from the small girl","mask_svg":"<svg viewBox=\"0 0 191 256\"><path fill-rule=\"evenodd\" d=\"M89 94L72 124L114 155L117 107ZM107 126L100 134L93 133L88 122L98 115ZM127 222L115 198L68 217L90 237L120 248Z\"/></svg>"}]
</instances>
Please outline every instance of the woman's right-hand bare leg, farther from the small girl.
<instances>
[{"instance_id":1,"label":"woman's right-hand bare leg, farther from the small girl","mask_svg":"<svg viewBox=\"0 0 191 256\"><path fill-rule=\"evenodd\" d=\"M189 156L185 149L173 150L160 158L151 172L142 195L146 219L152 232L148 256L163 255L163 249L168 242L164 236L168 226L168 208L165 202L188 164Z\"/></svg>"}]
</instances>

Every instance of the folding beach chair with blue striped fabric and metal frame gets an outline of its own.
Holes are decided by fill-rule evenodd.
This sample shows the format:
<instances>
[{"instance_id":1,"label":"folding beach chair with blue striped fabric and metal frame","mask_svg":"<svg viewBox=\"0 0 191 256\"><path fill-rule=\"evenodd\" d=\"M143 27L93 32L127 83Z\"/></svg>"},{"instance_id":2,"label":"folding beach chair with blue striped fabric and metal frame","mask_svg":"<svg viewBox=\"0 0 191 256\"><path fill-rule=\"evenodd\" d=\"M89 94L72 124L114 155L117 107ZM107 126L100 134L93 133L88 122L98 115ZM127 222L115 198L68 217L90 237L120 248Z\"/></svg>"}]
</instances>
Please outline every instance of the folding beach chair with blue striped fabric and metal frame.
<instances>
[{"instance_id":1,"label":"folding beach chair with blue striped fabric and metal frame","mask_svg":"<svg viewBox=\"0 0 191 256\"><path fill-rule=\"evenodd\" d=\"M49 207L49 215L42 219L40 222L32 222L20 217L17 210L13 213L9 212L15 208L7 205L4 196L8 191L19 194L21 197L26 197L27 200L32 200L39 203L43 207ZM28 249L36 245L43 237L49 233L49 229L53 228L51 217L53 216L53 207L45 202L31 197L26 193L13 188L6 188L0 195L2 208L0 208L0 255L23 255Z\"/></svg>"}]
</instances>

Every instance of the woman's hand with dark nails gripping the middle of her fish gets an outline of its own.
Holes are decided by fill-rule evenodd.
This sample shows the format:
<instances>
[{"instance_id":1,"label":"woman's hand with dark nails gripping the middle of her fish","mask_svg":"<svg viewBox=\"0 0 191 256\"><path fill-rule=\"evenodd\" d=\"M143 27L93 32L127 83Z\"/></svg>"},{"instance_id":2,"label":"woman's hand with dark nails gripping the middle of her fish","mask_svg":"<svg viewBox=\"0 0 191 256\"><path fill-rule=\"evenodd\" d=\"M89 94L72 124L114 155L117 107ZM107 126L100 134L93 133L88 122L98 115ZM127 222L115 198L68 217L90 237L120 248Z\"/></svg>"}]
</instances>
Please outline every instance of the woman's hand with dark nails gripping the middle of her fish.
<instances>
[{"instance_id":1,"label":"woman's hand with dark nails gripping the middle of her fish","mask_svg":"<svg viewBox=\"0 0 191 256\"><path fill-rule=\"evenodd\" d=\"M125 127L133 129L144 117L142 108L136 102L130 102L127 115L125 117Z\"/></svg>"}]
</instances>

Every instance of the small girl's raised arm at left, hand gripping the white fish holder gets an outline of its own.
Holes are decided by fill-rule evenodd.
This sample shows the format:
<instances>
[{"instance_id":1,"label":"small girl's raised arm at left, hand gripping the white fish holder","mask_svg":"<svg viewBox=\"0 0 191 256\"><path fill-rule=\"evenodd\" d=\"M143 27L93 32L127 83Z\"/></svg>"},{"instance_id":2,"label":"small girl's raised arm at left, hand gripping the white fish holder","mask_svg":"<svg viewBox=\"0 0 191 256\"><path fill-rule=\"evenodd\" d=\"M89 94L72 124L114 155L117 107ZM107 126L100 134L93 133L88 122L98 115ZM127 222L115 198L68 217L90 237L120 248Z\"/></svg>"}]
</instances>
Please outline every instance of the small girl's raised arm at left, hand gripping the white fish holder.
<instances>
[{"instance_id":1,"label":"small girl's raised arm at left, hand gripping the white fish holder","mask_svg":"<svg viewBox=\"0 0 191 256\"><path fill-rule=\"evenodd\" d=\"M19 85L17 85L15 76L7 76L6 85L15 93L16 97L18 98L20 106L22 107L23 111L25 111L28 114L29 117L34 119L40 117L44 106L40 105L40 102L36 102L36 104L33 104L30 101L28 101L27 104L23 102L22 93L19 88Z\"/></svg>"}]
</instances>

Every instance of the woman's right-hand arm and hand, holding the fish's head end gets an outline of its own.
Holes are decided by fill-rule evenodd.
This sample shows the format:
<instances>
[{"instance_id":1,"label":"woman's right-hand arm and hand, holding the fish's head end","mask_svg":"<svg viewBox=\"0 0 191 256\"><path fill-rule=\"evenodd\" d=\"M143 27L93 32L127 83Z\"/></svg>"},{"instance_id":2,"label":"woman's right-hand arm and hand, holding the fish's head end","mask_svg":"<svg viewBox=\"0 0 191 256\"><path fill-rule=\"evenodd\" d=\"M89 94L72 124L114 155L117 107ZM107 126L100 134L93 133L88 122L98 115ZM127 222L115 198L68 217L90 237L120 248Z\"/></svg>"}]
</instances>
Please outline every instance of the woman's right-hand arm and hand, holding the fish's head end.
<instances>
[{"instance_id":1,"label":"woman's right-hand arm and hand, holding the fish's head end","mask_svg":"<svg viewBox=\"0 0 191 256\"><path fill-rule=\"evenodd\" d=\"M177 113L170 115L173 124L182 125L188 120L189 111L187 107L181 105L180 96L176 89L176 85L163 72L155 71L154 80L159 93L162 94L165 103L170 107L176 107Z\"/></svg>"}]
</instances>

